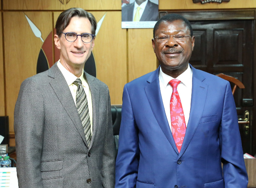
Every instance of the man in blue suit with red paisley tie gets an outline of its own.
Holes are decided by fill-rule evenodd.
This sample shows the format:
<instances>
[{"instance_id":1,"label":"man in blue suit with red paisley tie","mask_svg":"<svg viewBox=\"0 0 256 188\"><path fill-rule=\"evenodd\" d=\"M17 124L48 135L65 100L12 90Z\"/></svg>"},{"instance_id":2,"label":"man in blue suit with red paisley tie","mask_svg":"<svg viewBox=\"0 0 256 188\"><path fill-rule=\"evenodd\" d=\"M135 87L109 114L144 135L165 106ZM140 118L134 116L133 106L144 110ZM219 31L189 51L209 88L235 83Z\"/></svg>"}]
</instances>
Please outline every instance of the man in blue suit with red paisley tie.
<instances>
[{"instance_id":1,"label":"man in blue suit with red paisley tie","mask_svg":"<svg viewBox=\"0 0 256 188\"><path fill-rule=\"evenodd\" d=\"M116 188L247 188L229 82L188 63L184 17L163 16L153 33L160 66L124 86Z\"/></svg>"}]
</instances>

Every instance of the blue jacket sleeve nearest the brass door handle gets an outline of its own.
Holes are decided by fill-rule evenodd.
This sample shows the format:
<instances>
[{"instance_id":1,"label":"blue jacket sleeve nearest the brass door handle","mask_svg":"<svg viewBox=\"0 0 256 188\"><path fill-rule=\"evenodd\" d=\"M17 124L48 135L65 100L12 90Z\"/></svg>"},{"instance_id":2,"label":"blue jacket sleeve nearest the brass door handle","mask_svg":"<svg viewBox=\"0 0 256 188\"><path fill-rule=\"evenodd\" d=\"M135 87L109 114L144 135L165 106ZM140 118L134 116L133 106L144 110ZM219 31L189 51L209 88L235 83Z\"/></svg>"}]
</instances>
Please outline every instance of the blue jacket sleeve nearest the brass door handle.
<instances>
[{"instance_id":1,"label":"blue jacket sleeve nearest the brass door handle","mask_svg":"<svg viewBox=\"0 0 256 188\"><path fill-rule=\"evenodd\" d=\"M219 139L225 188L247 188L248 176L244 163L236 105L229 82L227 82L223 102Z\"/></svg>"}]
</instances>

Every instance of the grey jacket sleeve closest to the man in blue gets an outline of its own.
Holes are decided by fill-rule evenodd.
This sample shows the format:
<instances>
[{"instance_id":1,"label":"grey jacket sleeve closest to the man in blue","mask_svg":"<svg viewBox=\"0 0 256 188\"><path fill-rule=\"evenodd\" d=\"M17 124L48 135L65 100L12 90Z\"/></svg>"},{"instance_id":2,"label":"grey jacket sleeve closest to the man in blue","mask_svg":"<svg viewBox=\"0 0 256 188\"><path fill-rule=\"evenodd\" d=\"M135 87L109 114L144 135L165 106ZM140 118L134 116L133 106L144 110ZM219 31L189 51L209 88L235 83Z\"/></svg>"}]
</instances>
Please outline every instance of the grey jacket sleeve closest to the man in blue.
<instances>
[{"instance_id":1,"label":"grey jacket sleeve closest to the man in blue","mask_svg":"<svg viewBox=\"0 0 256 188\"><path fill-rule=\"evenodd\" d=\"M114 138L113 138L113 124L111 116L111 105L109 89L106 89L107 99L107 127L104 140L103 158L102 158L102 176L103 176L103 187L114 188L115 184L115 156L114 156Z\"/></svg>"}]
</instances>

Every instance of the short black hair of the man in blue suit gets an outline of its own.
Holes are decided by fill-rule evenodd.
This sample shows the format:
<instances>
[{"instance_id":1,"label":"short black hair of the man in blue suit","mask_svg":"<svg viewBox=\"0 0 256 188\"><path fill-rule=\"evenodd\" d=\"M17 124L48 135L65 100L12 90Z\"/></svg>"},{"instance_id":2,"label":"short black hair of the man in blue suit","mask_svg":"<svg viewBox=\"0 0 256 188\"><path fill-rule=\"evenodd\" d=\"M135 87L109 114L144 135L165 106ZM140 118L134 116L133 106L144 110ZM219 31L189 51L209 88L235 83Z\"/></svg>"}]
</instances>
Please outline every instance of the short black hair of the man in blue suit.
<instances>
[{"instance_id":1,"label":"short black hair of the man in blue suit","mask_svg":"<svg viewBox=\"0 0 256 188\"><path fill-rule=\"evenodd\" d=\"M190 35L193 36L193 30L192 30L192 26L190 24L190 22L183 16L179 15L179 14L175 14L175 13L172 13L172 14L167 14L163 17L161 17L157 23L155 24L154 26L154 30L153 30L153 37L155 38L155 31L158 29L159 25L164 22L164 21L167 21L169 23L172 23L173 21L176 21L176 20L181 20L183 21L184 25L189 29L190 31Z\"/></svg>"}]
</instances>

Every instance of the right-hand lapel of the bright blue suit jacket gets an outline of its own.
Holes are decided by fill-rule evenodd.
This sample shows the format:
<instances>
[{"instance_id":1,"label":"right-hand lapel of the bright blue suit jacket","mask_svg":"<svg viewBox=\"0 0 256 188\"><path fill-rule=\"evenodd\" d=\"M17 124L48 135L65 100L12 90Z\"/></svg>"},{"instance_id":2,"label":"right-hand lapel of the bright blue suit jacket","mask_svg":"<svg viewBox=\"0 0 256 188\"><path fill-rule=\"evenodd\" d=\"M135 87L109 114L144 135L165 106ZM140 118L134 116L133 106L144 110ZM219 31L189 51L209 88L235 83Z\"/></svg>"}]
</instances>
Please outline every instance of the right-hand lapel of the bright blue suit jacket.
<instances>
[{"instance_id":1,"label":"right-hand lapel of the bright blue suit jacket","mask_svg":"<svg viewBox=\"0 0 256 188\"><path fill-rule=\"evenodd\" d=\"M199 121L203 114L208 90L208 85L203 83L205 78L199 73L199 70L196 70L191 65L190 67L192 68L193 71L191 107L187 130L185 133L179 157L185 152L189 142L191 141L192 137L196 132L197 126L199 125Z\"/></svg>"}]
</instances>

